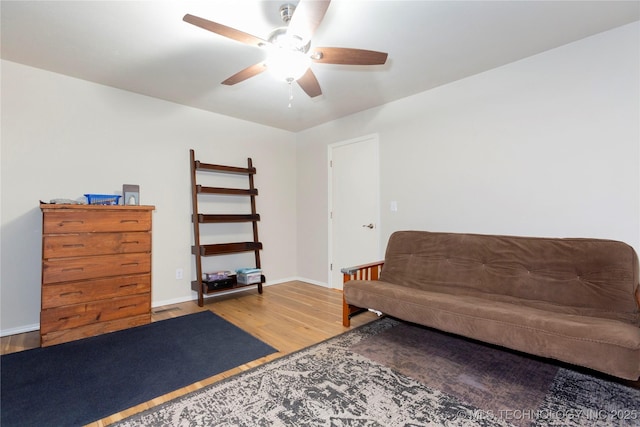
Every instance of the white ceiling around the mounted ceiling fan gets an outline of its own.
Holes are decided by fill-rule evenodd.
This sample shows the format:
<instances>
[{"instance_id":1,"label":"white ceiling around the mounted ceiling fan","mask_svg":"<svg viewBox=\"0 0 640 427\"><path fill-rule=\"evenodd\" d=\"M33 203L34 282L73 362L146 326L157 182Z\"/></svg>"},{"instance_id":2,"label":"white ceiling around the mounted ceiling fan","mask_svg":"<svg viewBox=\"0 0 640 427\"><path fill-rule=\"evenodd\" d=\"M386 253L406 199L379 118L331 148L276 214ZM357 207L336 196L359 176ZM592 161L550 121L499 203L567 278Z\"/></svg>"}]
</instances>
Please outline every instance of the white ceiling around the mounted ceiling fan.
<instances>
[{"instance_id":1,"label":"white ceiling around the mounted ceiling fan","mask_svg":"<svg viewBox=\"0 0 640 427\"><path fill-rule=\"evenodd\" d=\"M266 38L285 2L2 0L2 58L299 131L640 19L640 1L333 0L312 46L389 59L313 64L323 94L294 85L288 108L287 84L269 73L220 84L264 59L260 48L182 21L190 13Z\"/></svg>"}]
</instances>

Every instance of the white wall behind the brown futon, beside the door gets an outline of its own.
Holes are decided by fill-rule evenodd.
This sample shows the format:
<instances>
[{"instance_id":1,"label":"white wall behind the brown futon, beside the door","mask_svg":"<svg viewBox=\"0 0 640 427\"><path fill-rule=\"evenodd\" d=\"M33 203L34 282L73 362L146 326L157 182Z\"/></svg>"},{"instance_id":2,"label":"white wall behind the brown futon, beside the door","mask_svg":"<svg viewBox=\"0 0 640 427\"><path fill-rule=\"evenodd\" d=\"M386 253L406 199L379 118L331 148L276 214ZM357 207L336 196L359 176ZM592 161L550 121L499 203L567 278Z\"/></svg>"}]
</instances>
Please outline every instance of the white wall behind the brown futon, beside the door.
<instances>
[{"instance_id":1,"label":"white wall behind the brown futon, beside the door","mask_svg":"<svg viewBox=\"0 0 640 427\"><path fill-rule=\"evenodd\" d=\"M639 76L634 23L299 132L298 274L328 281L318 159L371 133L383 247L423 229L609 238L640 252Z\"/></svg>"}]
</instances>

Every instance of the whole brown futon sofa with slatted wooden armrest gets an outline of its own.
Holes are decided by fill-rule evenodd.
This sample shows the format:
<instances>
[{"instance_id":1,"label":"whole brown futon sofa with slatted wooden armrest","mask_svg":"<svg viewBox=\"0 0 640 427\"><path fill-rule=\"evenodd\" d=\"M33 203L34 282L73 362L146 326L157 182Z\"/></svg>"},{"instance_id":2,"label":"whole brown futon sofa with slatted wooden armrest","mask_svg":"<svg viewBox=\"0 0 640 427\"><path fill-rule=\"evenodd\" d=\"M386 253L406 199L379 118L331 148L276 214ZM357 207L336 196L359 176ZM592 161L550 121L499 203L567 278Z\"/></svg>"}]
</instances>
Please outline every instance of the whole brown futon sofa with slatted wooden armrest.
<instances>
[{"instance_id":1,"label":"whole brown futon sofa with slatted wooden armrest","mask_svg":"<svg viewBox=\"0 0 640 427\"><path fill-rule=\"evenodd\" d=\"M398 231L342 270L359 308L617 377L640 376L638 256L625 243ZM349 279L347 281L347 279Z\"/></svg>"}]
</instances>

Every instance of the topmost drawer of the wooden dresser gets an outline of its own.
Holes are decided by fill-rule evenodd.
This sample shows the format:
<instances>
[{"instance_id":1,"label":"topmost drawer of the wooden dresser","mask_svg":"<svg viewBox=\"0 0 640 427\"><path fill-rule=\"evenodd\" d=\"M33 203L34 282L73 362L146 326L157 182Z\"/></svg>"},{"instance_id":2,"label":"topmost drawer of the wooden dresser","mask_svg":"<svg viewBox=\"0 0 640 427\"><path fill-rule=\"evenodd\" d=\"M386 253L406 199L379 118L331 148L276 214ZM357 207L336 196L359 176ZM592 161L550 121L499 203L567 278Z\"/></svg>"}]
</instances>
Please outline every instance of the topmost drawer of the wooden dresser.
<instances>
[{"instance_id":1,"label":"topmost drawer of the wooden dresser","mask_svg":"<svg viewBox=\"0 0 640 427\"><path fill-rule=\"evenodd\" d=\"M127 210L44 212L42 225L43 234L149 230L150 212Z\"/></svg>"}]
</instances>

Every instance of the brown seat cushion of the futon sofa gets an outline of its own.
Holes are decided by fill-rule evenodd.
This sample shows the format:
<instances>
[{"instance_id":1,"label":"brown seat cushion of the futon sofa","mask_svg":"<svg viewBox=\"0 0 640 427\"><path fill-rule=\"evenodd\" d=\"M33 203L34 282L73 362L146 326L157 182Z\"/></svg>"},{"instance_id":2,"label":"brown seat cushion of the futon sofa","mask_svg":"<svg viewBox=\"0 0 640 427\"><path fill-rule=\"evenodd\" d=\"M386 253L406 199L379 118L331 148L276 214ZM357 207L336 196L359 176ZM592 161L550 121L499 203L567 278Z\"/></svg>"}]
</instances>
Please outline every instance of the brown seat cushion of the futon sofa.
<instances>
[{"instance_id":1,"label":"brown seat cushion of the futon sofa","mask_svg":"<svg viewBox=\"0 0 640 427\"><path fill-rule=\"evenodd\" d=\"M541 302L417 290L384 281L345 284L349 304L622 378L640 373L640 329L628 322L549 310Z\"/></svg>"}]
</instances>

